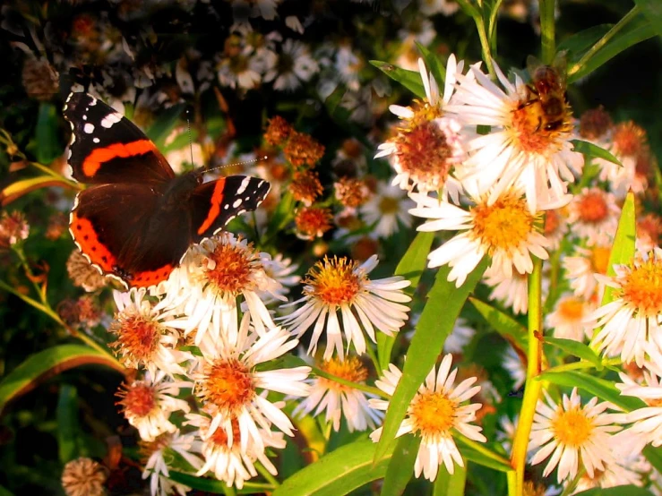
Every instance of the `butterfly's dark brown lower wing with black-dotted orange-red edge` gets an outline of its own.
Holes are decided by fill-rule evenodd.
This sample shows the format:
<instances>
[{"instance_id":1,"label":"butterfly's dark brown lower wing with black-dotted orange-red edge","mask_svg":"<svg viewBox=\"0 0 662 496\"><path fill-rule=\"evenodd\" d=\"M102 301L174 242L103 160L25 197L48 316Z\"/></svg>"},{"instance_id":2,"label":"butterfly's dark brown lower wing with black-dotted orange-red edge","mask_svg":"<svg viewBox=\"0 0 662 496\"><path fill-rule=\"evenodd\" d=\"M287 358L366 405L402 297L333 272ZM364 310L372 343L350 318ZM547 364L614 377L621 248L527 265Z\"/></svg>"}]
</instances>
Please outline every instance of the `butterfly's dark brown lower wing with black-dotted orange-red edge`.
<instances>
[{"instance_id":1,"label":"butterfly's dark brown lower wing with black-dotted orange-red edge","mask_svg":"<svg viewBox=\"0 0 662 496\"><path fill-rule=\"evenodd\" d=\"M128 286L165 280L190 244L187 210L160 209L148 184L100 184L78 194L70 217L73 241L103 274Z\"/></svg>"}]
</instances>

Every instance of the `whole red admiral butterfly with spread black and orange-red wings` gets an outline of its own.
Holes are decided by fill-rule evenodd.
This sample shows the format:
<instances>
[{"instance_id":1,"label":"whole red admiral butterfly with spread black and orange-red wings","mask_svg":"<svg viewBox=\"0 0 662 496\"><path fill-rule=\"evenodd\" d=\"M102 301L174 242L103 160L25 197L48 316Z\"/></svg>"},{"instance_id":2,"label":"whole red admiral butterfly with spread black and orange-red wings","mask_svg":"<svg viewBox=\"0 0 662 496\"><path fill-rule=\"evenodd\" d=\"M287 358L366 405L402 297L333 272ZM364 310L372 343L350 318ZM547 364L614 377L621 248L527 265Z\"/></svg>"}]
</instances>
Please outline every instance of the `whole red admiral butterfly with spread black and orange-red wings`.
<instances>
[{"instance_id":1,"label":"whole red admiral butterfly with spread black and orange-red wings","mask_svg":"<svg viewBox=\"0 0 662 496\"><path fill-rule=\"evenodd\" d=\"M135 124L91 95L71 93L64 118L73 178L90 184L76 196L69 230L90 262L125 286L167 279L191 244L257 209L269 192L257 177L176 176Z\"/></svg>"}]
</instances>

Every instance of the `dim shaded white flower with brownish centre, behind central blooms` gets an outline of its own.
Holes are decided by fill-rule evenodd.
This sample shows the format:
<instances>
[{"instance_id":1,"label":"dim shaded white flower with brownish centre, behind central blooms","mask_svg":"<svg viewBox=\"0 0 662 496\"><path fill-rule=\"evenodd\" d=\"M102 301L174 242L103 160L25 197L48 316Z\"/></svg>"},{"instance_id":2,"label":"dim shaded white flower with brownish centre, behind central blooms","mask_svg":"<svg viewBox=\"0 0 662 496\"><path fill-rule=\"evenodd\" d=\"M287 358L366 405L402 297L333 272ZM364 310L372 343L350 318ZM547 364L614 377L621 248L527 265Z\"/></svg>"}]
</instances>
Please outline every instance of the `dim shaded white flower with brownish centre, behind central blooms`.
<instances>
[{"instance_id":1,"label":"dim shaded white flower with brownish centre, behind central blooms","mask_svg":"<svg viewBox=\"0 0 662 496\"><path fill-rule=\"evenodd\" d=\"M359 209L365 223L372 226L371 235L386 238L400 226L411 227L409 210L414 202L398 186L379 182L377 192Z\"/></svg>"}]
</instances>

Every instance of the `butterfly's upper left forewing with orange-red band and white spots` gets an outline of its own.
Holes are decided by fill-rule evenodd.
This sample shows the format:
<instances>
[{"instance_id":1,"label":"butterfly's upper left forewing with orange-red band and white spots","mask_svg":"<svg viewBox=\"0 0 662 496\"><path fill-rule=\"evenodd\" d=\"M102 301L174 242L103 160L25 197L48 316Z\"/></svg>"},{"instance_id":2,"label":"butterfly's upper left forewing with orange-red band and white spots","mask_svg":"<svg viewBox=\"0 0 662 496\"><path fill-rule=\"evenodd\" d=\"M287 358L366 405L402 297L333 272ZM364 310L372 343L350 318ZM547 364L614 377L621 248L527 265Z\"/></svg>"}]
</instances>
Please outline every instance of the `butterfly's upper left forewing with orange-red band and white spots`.
<instances>
[{"instance_id":1,"label":"butterfly's upper left forewing with orange-red band and white spots","mask_svg":"<svg viewBox=\"0 0 662 496\"><path fill-rule=\"evenodd\" d=\"M69 165L77 181L159 184L175 177L154 143L98 98L71 93L64 118L72 126Z\"/></svg>"}]
</instances>

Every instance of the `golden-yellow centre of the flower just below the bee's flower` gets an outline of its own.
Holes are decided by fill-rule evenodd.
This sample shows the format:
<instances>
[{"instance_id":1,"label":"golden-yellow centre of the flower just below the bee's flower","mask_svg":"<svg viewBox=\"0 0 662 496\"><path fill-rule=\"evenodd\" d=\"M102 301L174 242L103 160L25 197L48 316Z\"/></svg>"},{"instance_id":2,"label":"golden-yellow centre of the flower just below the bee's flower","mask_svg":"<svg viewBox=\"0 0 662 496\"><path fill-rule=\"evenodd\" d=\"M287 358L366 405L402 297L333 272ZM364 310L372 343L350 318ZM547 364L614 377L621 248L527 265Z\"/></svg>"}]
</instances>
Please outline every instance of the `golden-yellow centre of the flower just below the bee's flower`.
<instances>
[{"instance_id":1,"label":"golden-yellow centre of the flower just below the bee's flower","mask_svg":"<svg viewBox=\"0 0 662 496\"><path fill-rule=\"evenodd\" d=\"M510 194L503 195L493 205L479 203L471 209L471 216L473 235L487 246L490 255L496 250L512 252L525 244L537 220L524 199Z\"/></svg>"}]
</instances>

